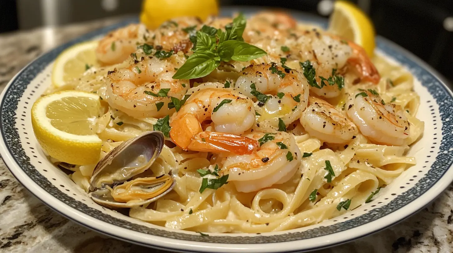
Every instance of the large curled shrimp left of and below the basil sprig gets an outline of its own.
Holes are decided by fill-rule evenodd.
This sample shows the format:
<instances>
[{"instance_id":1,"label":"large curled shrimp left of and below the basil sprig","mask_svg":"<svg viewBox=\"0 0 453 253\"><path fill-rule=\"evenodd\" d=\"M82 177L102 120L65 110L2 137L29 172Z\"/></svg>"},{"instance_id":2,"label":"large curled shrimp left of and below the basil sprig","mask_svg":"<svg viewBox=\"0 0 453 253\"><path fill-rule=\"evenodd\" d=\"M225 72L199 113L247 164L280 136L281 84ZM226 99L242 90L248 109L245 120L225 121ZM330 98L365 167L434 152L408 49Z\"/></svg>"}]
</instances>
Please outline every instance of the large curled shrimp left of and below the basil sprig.
<instances>
[{"instance_id":1,"label":"large curled shrimp left of and below the basil sprig","mask_svg":"<svg viewBox=\"0 0 453 253\"><path fill-rule=\"evenodd\" d=\"M182 66L185 57L142 59L129 67L109 71L107 102L132 117L162 117L174 112L167 107L170 96L181 99L189 88L189 80L172 78L176 73L174 68Z\"/></svg>"}]
</instances>

